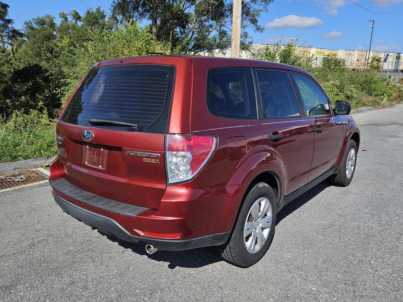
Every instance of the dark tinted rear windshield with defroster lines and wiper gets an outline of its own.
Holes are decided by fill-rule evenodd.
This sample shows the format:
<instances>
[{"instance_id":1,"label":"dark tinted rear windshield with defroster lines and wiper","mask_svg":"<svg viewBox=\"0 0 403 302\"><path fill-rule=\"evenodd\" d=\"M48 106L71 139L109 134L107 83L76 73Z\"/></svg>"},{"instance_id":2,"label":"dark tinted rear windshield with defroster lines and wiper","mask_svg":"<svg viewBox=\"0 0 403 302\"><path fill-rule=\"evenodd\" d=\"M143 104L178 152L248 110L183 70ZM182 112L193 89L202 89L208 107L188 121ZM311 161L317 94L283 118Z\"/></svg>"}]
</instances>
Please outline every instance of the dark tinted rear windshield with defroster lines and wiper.
<instances>
[{"instance_id":1,"label":"dark tinted rear windshield with defroster lines and wiper","mask_svg":"<svg viewBox=\"0 0 403 302\"><path fill-rule=\"evenodd\" d=\"M166 133L174 72L173 66L151 64L93 69L74 93L60 121L93 128ZM110 122L138 127L114 126Z\"/></svg>"}]
</instances>

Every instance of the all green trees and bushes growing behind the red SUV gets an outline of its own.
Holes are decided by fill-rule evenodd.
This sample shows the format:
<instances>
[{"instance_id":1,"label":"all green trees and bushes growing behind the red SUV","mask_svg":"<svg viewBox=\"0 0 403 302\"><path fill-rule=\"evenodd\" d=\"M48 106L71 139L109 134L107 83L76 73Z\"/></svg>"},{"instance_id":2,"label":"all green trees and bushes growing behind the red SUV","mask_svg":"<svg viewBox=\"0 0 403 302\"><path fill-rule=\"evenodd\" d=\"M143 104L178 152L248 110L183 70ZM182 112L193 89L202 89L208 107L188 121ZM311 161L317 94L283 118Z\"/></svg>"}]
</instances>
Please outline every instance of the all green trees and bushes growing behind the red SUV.
<instances>
[{"instance_id":1,"label":"all green trees and bushes growing behind the red SUV","mask_svg":"<svg viewBox=\"0 0 403 302\"><path fill-rule=\"evenodd\" d=\"M258 20L272 1L243 2L241 49L253 50L246 29L264 30ZM9 6L0 2L0 162L56 154L55 118L95 62L147 52L194 54L229 48L232 3L112 0L110 14L100 7L84 14L60 12L58 23L47 14L17 30L8 18ZM353 107L401 101L402 88L374 73L380 60L373 60L363 73L347 70L335 57L312 68L312 58L300 56L296 43L279 42L256 58L310 71L333 101L346 99Z\"/></svg>"}]
</instances>

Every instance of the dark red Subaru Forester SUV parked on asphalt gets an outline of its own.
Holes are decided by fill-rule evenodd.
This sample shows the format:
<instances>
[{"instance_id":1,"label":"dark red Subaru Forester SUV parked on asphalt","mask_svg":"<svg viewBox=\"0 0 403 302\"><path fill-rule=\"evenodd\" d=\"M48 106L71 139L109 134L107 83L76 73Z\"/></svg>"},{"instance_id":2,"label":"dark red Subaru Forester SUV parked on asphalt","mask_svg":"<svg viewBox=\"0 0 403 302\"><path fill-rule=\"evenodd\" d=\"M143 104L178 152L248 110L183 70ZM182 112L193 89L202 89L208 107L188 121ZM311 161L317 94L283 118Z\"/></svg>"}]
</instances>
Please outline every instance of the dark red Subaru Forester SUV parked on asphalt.
<instances>
[{"instance_id":1,"label":"dark red Subaru Forester SUV parked on asphalt","mask_svg":"<svg viewBox=\"0 0 403 302\"><path fill-rule=\"evenodd\" d=\"M218 246L249 267L276 213L347 186L360 133L311 74L272 62L143 56L95 64L56 124L50 166L69 215L152 254Z\"/></svg>"}]
</instances>

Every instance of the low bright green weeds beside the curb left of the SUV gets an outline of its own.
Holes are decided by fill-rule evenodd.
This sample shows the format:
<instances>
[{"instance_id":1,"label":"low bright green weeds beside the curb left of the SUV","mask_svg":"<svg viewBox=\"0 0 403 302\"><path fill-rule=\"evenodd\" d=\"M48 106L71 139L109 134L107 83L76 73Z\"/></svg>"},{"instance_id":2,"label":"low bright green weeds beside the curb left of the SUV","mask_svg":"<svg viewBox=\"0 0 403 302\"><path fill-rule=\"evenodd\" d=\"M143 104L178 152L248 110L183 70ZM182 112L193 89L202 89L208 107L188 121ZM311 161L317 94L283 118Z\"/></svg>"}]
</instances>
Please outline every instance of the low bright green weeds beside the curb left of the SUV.
<instances>
[{"instance_id":1,"label":"low bright green weeds beside the curb left of the SUV","mask_svg":"<svg viewBox=\"0 0 403 302\"><path fill-rule=\"evenodd\" d=\"M46 112L36 110L0 121L0 163L56 155L55 125Z\"/></svg>"}]
</instances>

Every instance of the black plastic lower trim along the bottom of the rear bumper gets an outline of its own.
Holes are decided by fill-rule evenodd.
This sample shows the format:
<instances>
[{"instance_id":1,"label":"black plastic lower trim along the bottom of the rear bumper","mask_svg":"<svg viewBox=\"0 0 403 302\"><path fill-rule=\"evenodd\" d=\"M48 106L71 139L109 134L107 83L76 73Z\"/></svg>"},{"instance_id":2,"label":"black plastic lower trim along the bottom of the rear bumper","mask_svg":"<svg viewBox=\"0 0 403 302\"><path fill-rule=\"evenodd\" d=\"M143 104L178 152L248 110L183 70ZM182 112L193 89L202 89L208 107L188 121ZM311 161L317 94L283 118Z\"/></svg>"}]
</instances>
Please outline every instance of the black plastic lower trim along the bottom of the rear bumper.
<instances>
[{"instance_id":1,"label":"black plastic lower trim along the bottom of the rear bumper","mask_svg":"<svg viewBox=\"0 0 403 302\"><path fill-rule=\"evenodd\" d=\"M231 232L225 232L189 240L161 240L144 238L133 236L112 218L83 209L77 205L74 205L73 203L70 203L69 201L62 199L61 197L56 197L56 203L64 211L66 211L66 213L75 219L82 221L92 228L100 230L102 233L113 235L129 242L145 242L152 244L160 250L188 250L191 248L220 245L227 242L231 234Z\"/></svg>"}]
</instances>

